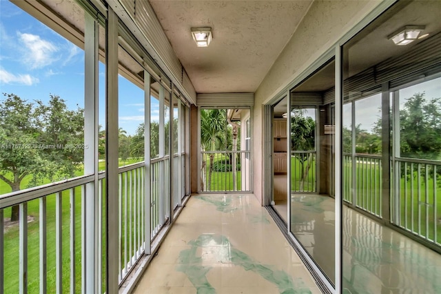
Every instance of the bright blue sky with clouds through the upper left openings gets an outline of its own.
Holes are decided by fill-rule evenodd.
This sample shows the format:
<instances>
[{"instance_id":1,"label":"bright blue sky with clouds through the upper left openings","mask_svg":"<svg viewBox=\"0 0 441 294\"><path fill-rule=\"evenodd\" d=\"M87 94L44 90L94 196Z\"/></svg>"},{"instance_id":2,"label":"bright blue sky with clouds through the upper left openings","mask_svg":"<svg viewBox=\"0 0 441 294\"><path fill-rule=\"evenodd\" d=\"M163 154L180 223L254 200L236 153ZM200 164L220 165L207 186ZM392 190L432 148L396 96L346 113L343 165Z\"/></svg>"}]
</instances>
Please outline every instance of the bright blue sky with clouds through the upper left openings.
<instances>
[{"instance_id":1,"label":"bright blue sky with clouds through the upper left openings","mask_svg":"<svg viewBox=\"0 0 441 294\"><path fill-rule=\"evenodd\" d=\"M99 79L99 124L104 127L102 63ZM84 51L10 1L0 0L0 92L44 102L58 95L68 108L84 108ZM152 120L158 121L158 108L152 99ZM119 127L133 135L143 115L143 90L119 76Z\"/></svg>"}]
</instances>

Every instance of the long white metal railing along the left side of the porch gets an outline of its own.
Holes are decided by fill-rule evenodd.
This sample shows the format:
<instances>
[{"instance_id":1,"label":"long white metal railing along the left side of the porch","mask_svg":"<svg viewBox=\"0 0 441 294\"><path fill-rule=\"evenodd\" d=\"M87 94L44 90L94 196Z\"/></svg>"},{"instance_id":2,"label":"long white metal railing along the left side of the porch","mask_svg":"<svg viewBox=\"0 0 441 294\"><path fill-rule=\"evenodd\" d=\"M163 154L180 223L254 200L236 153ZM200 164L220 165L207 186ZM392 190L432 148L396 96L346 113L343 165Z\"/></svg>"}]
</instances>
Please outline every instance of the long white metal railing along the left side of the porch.
<instances>
[{"instance_id":1,"label":"long white metal railing along the left side of the porch","mask_svg":"<svg viewBox=\"0 0 441 294\"><path fill-rule=\"evenodd\" d=\"M170 218L169 164L169 157L151 161L151 239ZM144 179L144 162L119 168L120 284L145 253ZM47 293L52 290L85 293L84 252L86 242L90 240L85 240L86 211L83 204L88 197L87 187L95 180L94 175L85 175L0 195L0 293ZM105 173L100 173L95 213L98 220L96 233L101 237L97 237L99 266L94 273L99 281L99 293L105 289L101 284L105 273L105 180ZM185 189L182 193L185 194ZM19 222L9 224L3 217L14 205L19 205ZM8 288L4 286L5 278L8 279Z\"/></svg>"}]
</instances>

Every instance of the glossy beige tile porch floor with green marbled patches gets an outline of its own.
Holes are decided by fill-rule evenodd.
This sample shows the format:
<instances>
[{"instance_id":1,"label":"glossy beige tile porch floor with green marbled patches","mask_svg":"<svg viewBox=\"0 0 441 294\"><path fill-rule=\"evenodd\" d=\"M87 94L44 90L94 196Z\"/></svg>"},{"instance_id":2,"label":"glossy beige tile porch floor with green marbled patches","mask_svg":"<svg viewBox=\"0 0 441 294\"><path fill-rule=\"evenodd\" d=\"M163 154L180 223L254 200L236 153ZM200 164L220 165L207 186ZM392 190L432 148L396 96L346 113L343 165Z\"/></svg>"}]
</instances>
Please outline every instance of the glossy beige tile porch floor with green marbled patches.
<instances>
[{"instance_id":1,"label":"glossy beige tile porch floor with green marbled patches","mask_svg":"<svg viewBox=\"0 0 441 294\"><path fill-rule=\"evenodd\" d=\"M320 293L254 195L187 202L134 293Z\"/></svg>"}]
</instances>

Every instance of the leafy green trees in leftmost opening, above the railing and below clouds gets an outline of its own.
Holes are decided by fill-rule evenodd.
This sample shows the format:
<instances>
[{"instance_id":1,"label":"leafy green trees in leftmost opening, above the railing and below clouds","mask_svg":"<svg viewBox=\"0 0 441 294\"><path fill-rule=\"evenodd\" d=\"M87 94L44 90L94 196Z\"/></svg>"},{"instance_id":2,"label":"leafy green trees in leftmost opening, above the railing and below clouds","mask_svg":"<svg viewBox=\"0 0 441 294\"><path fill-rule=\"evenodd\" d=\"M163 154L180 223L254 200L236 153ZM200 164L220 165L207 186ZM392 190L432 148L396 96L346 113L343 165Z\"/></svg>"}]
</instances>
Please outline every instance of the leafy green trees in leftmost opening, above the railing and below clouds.
<instances>
[{"instance_id":1,"label":"leafy green trees in leftmost opening, above the railing and below clouds","mask_svg":"<svg viewBox=\"0 0 441 294\"><path fill-rule=\"evenodd\" d=\"M15 192L23 179L28 186L73 177L83 164L83 110L68 110L65 101L50 95L48 105L31 103L14 94L0 101L0 179ZM13 206L11 220L19 219Z\"/></svg>"}]
</instances>

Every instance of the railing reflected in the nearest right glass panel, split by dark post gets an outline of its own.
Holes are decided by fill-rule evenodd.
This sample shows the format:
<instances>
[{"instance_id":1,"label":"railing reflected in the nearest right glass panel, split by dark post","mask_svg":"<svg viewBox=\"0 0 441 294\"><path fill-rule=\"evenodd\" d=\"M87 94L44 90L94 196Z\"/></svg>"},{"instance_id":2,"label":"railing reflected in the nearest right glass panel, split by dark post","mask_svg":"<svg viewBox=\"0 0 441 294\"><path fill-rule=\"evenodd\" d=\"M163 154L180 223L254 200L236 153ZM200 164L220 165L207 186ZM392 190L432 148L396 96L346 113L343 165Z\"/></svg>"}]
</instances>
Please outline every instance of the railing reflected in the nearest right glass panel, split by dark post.
<instances>
[{"instance_id":1,"label":"railing reflected in the nearest right glass panel, split by dark post","mask_svg":"<svg viewBox=\"0 0 441 294\"><path fill-rule=\"evenodd\" d=\"M378 217L382 217L381 158L343 155L343 199ZM391 222L441 244L441 161L396 157L390 163Z\"/></svg>"}]
</instances>

